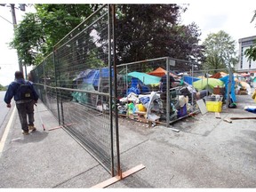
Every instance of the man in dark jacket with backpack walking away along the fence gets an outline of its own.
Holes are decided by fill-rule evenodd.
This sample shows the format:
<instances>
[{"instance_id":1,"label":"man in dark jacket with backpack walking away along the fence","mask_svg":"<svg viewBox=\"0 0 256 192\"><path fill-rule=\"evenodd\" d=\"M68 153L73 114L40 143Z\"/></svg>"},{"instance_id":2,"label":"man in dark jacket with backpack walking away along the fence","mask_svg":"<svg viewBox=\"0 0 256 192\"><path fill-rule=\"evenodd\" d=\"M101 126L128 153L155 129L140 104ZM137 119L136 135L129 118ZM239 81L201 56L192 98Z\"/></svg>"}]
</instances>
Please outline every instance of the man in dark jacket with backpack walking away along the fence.
<instances>
[{"instance_id":1,"label":"man in dark jacket with backpack walking away along the fence","mask_svg":"<svg viewBox=\"0 0 256 192\"><path fill-rule=\"evenodd\" d=\"M15 72L15 81L9 84L5 93L4 102L7 104L7 108L11 108L13 96L16 102L16 108L18 109L23 134L29 134L29 130L32 132L36 131L36 127L34 126L34 104L38 100L38 95L33 84L26 81L23 73L20 71Z\"/></svg>"}]
</instances>

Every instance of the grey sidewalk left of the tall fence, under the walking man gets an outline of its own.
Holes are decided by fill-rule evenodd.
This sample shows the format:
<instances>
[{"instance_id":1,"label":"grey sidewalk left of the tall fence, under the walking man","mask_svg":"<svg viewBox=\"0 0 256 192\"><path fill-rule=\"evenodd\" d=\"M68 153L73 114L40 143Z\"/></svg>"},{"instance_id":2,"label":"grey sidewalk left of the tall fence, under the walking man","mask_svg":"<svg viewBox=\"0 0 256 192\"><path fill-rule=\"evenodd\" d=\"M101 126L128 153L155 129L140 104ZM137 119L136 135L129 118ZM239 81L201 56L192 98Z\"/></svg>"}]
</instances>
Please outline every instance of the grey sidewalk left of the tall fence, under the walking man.
<instances>
[{"instance_id":1,"label":"grey sidewalk left of the tall fence, under the walking man","mask_svg":"<svg viewBox=\"0 0 256 192\"><path fill-rule=\"evenodd\" d=\"M14 109L12 126L0 156L0 188L61 188L63 184L67 185L65 188L90 188L100 182L100 177L109 178L108 172L67 132L48 131L59 126L58 121L43 103L38 102L37 108L46 131L35 107L37 130L29 135L21 133L19 116ZM90 180L77 183L79 175Z\"/></svg>"}]
</instances>

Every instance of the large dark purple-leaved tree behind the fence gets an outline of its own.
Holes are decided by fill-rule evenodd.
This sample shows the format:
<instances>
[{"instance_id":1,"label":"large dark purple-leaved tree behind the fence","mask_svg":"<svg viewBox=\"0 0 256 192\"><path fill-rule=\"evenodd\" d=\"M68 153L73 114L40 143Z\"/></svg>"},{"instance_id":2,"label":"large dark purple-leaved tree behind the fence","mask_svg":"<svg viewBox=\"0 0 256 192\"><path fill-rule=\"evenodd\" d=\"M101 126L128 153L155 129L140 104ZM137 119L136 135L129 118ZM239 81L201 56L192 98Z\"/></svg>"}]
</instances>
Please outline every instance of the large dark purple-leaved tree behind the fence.
<instances>
[{"instance_id":1,"label":"large dark purple-leaved tree behind the fence","mask_svg":"<svg viewBox=\"0 0 256 192\"><path fill-rule=\"evenodd\" d=\"M170 56L199 60L198 28L180 25L178 4L121 4L117 6L116 55L118 63Z\"/></svg>"}]
</instances>

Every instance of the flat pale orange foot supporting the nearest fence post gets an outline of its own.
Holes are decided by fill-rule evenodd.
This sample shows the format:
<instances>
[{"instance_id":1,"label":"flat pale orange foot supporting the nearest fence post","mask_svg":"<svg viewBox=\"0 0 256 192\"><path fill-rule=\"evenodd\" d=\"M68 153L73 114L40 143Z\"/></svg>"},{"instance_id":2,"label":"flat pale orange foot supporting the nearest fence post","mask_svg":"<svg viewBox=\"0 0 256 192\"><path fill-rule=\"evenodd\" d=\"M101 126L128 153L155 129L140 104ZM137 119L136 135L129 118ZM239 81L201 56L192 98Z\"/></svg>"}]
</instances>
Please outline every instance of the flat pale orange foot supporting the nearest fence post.
<instances>
[{"instance_id":1,"label":"flat pale orange foot supporting the nearest fence post","mask_svg":"<svg viewBox=\"0 0 256 192\"><path fill-rule=\"evenodd\" d=\"M107 188L108 186L116 183L117 181L123 180L124 178L130 176L131 174L133 174L135 172L139 172L140 170L142 170L144 168L145 168L145 166L143 164L139 164L126 172L122 172L121 176L117 175L108 180L104 180L103 182L101 182L95 186L92 186L92 188Z\"/></svg>"}]
</instances>

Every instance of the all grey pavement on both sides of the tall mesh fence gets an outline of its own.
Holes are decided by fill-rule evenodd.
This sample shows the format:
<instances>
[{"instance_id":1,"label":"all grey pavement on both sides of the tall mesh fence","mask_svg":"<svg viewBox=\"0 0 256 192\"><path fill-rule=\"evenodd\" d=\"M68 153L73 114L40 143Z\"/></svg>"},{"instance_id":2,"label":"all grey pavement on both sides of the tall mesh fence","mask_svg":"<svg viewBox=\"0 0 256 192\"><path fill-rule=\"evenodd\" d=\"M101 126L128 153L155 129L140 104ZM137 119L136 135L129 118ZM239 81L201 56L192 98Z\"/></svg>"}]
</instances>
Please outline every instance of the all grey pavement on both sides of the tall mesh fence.
<instances>
[{"instance_id":1,"label":"all grey pavement on both sides of the tall mesh fence","mask_svg":"<svg viewBox=\"0 0 256 192\"><path fill-rule=\"evenodd\" d=\"M188 117L173 132L119 119L123 172L144 164L108 188L255 188L256 120L223 121L230 116L256 116L244 111L251 95L238 95L237 108ZM36 132L22 135L17 110L0 155L0 188L91 188L110 174L67 132L49 129L58 121L41 102L35 108ZM12 106L13 108L13 106ZM129 120L128 120L129 121Z\"/></svg>"}]
</instances>

